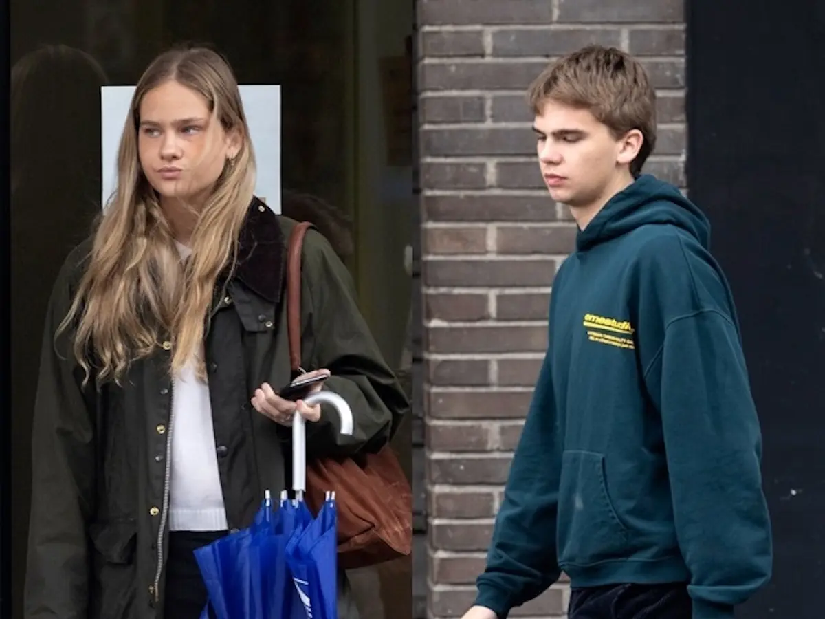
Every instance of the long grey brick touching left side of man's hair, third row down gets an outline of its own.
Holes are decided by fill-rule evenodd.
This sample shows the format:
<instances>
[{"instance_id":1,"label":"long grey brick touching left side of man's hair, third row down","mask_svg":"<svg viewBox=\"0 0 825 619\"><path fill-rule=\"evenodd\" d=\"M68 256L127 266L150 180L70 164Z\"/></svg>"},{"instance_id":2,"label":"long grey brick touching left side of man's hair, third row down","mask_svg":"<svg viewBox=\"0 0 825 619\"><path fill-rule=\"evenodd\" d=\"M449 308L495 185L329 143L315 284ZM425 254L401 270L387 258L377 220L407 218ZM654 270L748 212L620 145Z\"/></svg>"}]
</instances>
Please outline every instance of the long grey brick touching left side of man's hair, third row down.
<instances>
[{"instance_id":1,"label":"long grey brick touching left side of man's hair, third row down","mask_svg":"<svg viewBox=\"0 0 825 619\"><path fill-rule=\"evenodd\" d=\"M427 90L522 90L530 85L544 62L468 60L419 65L418 85Z\"/></svg>"}]
</instances>

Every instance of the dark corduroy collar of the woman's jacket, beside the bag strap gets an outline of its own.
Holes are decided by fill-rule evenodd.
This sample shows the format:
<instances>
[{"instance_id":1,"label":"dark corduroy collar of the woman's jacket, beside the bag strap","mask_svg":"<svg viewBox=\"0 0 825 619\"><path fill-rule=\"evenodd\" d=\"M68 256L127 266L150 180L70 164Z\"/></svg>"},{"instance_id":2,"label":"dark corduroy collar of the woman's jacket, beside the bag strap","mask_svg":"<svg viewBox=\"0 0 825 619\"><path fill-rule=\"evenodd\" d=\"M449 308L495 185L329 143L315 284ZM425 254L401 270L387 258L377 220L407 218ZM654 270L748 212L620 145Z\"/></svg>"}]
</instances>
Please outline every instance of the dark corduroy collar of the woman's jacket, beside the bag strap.
<instances>
[{"instance_id":1,"label":"dark corduroy collar of the woman's jacket, beside the bag strap","mask_svg":"<svg viewBox=\"0 0 825 619\"><path fill-rule=\"evenodd\" d=\"M286 243L281 223L269 206L252 198L238 239L233 277L262 298L278 303L284 287Z\"/></svg>"}]
</instances>

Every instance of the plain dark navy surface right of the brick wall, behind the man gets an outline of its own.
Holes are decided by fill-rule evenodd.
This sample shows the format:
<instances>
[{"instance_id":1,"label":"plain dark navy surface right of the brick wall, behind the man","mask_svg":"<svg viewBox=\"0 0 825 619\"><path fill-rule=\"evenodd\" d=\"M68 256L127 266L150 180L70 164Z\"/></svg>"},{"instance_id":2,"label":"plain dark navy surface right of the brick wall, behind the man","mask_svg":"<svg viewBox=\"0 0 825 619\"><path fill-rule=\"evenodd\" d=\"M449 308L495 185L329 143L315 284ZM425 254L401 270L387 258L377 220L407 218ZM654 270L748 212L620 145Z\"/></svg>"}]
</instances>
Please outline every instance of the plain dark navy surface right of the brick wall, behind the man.
<instances>
[{"instance_id":1,"label":"plain dark navy surface right of the brick wall, behind the man","mask_svg":"<svg viewBox=\"0 0 825 619\"><path fill-rule=\"evenodd\" d=\"M688 186L736 296L774 577L738 617L822 617L825 5L690 2Z\"/></svg>"}]
</instances>

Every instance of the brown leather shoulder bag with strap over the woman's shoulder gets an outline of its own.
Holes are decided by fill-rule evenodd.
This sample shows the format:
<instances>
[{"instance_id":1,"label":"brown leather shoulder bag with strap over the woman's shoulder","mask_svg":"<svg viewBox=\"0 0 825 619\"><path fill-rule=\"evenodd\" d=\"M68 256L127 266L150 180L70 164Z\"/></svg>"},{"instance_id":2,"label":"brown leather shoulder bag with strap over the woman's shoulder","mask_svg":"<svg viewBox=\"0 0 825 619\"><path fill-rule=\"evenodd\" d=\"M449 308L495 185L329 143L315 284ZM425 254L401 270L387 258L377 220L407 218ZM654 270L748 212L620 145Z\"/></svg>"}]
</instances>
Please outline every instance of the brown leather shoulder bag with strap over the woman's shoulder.
<instances>
[{"instance_id":1,"label":"brown leather shoulder bag with strap over the woman's shoulder","mask_svg":"<svg viewBox=\"0 0 825 619\"><path fill-rule=\"evenodd\" d=\"M287 331L290 364L301 366L301 255L310 224L290 234L286 265ZM324 493L335 491L338 565L355 569L410 554L413 546L413 491L392 448L352 458L319 458L307 464L305 500L315 513Z\"/></svg>"}]
</instances>

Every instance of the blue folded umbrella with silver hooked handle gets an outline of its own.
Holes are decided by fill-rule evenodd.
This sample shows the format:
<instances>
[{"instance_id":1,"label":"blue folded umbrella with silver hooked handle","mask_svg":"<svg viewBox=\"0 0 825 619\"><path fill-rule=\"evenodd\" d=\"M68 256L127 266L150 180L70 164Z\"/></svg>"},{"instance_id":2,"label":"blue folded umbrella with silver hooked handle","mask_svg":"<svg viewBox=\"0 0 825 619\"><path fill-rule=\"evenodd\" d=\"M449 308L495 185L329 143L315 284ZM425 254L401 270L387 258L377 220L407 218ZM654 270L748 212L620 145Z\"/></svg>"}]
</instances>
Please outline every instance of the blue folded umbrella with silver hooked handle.
<instances>
[{"instance_id":1,"label":"blue folded umbrella with silver hooked handle","mask_svg":"<svg viewBox=\"0 0 825 619\"><path fill-rule=\"evenodd\" d=\"M304 399L326 403L352 433L347 402L330 391ZM208 602L200 619L337 619L337 513L335 493L313 517L306 503L304 418L292 428L292 487L277 508L267 490L252 525L195 551Z\"/></svg>"}]
</instances>

